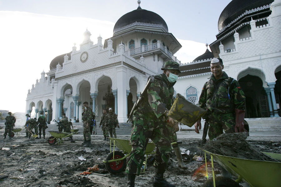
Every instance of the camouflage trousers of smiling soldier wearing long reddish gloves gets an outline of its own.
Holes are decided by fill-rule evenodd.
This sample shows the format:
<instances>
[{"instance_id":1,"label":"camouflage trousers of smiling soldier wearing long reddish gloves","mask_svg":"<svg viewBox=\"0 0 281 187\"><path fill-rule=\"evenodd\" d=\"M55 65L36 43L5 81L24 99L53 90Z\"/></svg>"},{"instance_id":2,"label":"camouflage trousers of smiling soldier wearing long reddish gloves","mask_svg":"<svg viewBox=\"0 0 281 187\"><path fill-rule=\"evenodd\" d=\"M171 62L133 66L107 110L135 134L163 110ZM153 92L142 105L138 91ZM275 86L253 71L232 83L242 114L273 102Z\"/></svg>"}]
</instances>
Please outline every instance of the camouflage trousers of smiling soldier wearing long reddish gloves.
<instances>
[{"instance_id":1,"label":"camouflage trousers of smiling soldier wearing long reddish gloves","mask_svg":"<svg viewBox=\"0 0 281 187\"><path fill-rule=\"evenodd\" d=\"M210 113L208 136L210 140L225 133L235 132L235 116L234 113ZM224 132L223 132L224 131Z\"/></svg>"}]
</instances>

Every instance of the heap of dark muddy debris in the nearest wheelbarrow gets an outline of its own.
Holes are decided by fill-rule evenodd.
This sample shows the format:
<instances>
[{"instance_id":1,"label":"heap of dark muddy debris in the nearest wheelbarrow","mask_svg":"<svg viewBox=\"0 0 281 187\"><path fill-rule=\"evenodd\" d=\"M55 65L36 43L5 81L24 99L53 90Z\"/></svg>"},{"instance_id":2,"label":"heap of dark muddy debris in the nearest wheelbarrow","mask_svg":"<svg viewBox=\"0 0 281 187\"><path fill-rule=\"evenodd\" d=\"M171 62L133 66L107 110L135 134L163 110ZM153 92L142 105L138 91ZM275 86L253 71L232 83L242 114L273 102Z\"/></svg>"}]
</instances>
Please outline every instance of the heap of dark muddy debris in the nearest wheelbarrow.
<instances>
[{"instance_id":1,"label":"heap of dark muddy debris in the nearest wheelbarrow","mask_svg":"<svg viewBox=\"0 0 281 187\"><path fill-rule=\"evenodd\" d=\"M224 133L219 137L208 141L205 145L200 146L202 149L214 154L231 156L241 159L260 160L260 161L273 161L277 160L267 156L246 141L249 136L247 132L239 133Z\"/></svg>"}]
</instances>

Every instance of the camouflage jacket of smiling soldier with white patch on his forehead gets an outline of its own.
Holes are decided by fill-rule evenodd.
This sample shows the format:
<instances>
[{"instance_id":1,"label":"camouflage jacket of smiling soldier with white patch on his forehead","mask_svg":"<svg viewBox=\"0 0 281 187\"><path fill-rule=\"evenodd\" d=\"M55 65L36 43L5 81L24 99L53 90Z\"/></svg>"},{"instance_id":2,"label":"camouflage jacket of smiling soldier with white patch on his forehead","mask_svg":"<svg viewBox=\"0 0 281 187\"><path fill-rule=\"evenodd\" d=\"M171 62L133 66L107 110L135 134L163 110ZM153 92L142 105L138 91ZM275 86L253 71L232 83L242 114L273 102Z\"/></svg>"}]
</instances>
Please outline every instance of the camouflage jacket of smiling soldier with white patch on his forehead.
<instances>
[{"instance_id":1,"label":"camouflage jacket of smiling soldier with white patch on his forehead","mask_svg":"<svg viewBox=\"0 0 281 187\"><path fill-rule=\"evenodd\" d=\"M223 72L220 79L212 75L203 86L199 105L205 110L216 113L230 113L234 109L245 110L245 94L237 80ZM219 86L215 93L216 86Z\"/></svg>"}]
</instances>

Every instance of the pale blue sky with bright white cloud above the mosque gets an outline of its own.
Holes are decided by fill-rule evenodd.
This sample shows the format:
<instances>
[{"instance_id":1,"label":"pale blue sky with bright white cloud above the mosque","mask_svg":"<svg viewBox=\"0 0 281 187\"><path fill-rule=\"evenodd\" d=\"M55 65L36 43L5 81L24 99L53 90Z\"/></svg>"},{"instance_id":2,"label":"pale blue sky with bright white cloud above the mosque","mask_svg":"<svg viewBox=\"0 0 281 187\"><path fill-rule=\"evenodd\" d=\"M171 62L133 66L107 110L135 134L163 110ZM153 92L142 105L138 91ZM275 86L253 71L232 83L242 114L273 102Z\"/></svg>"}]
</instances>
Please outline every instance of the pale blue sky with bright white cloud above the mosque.
<instances>
[{"instance_id":1,"label":"pale blue sky with bright white cloud above the mosque","mask_svg":"<svg viewBox=\"0 0 281 187\"><path fill-rule=\"evenodd\" d=\"M174 54L188 63L216 40L220 13L230 0L141 0L159 14L182 45ZM82 43L83 33L102 43L116 21L136 10L137 0L0 0L0 110L26 112L28 89L50 70L50 62ZM210 50L210 49L209 49Z\"/></svg>"}]
</instances>

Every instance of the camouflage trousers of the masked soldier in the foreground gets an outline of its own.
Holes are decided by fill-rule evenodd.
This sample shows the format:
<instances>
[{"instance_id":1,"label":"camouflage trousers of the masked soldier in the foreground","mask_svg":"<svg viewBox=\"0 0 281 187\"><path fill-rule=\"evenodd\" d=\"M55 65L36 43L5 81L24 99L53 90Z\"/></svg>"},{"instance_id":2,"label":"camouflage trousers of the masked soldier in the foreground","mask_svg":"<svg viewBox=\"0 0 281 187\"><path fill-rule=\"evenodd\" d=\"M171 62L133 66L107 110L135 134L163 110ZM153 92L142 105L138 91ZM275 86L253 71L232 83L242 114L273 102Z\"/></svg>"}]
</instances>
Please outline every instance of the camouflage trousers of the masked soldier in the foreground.
<instances>
[{"instance_id":1,"label":"camouflage trousers of the masked soldier in the foreground","mask_svg":"<svg viewBox=\"0 0 281 187\"><path fill-rule=\"evenodd\" d=\"M139 175L144 161L145 149L149 138L156 145L155 166L165 170L171 152L170 131L160 120L149 117L134 117L130 144L130 153L126 173Z\"/></svg>"}]
</instances>

